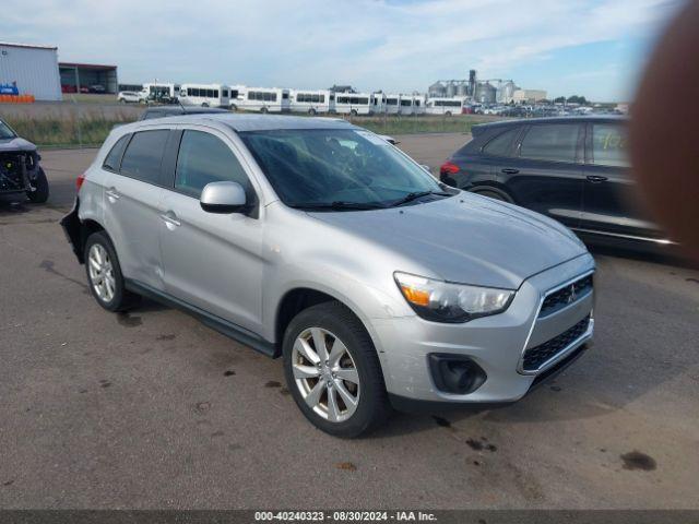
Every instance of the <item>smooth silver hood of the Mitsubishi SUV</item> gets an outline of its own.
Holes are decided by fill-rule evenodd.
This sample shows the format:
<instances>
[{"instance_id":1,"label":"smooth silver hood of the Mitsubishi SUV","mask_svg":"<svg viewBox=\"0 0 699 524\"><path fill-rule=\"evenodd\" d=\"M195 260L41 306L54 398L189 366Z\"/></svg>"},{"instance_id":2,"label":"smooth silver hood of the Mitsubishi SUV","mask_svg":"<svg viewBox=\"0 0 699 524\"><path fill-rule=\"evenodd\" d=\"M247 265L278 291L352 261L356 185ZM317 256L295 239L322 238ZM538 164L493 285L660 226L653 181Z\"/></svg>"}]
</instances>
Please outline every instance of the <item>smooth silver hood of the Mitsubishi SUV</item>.
<instances>
[{"instance_id":1,"label":"smooth silver hood of the Mitsubishi SUV","mask_svg":"<svg viewBox=\"0 0 699 524\"><path fill-rule=\"evenodd\" d=\"M517 289L528 277L588 252L557 222L472 193L389 210L310 215L433 272L424 276L463 284Z\"/></svg>"}]
</instances>

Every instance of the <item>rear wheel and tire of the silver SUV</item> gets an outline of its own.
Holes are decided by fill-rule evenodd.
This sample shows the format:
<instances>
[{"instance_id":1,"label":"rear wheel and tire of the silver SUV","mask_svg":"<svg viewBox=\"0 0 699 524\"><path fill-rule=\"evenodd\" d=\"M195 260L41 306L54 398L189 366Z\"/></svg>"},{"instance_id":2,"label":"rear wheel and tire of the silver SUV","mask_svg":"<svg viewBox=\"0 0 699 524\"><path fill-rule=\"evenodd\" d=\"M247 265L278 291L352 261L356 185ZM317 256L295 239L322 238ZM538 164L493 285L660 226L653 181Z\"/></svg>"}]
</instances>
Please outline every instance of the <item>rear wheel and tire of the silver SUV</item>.
<instances>
[{"instance_id":1,"label":"rear wheel and tire of the silver SUV","mask_svg":"<svg viewBox=\"0 0 699 524\"><path fill-rule=\"evenodd\" d=\"M99 257L97 257L97 254L99 254ZM87 237L84 255L87 285L90 286L92 296L97 300L99 306L107 311L116 312L126 311L139 302L141 297L127 290L125 287L117 252L105 231L93 233ZM99 265L102 267L97 271ZM102 276L103 286L96 283L98 276ZM111 283L110 286L109 283ZM108 287L111 287L111 294L99 290L106 289L108 291Z\"/></svg>"}]
</instances>

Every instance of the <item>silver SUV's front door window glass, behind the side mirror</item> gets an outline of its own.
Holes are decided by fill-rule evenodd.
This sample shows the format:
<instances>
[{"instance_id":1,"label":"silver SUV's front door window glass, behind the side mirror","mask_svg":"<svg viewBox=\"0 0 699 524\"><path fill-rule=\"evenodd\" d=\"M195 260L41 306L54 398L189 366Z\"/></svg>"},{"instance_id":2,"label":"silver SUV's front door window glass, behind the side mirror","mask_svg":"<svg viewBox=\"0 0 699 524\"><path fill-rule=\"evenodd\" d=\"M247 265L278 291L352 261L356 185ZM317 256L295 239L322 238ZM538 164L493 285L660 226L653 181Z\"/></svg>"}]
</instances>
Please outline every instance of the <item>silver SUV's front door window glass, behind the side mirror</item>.
<instances>
[{"instance_id":1,"label":"silver SUV's front door window glass, behind the side mirror","mask_svg":"<svg viewBox=\"0 0 699 524\"><path fill-rule=\"evenodd\" d=\"M252 187L233 151L220 139L202 131L185 131L177 156L175 189L198 199L209 182L238 182L248 199Z\"/></svg>"}]
</instances>

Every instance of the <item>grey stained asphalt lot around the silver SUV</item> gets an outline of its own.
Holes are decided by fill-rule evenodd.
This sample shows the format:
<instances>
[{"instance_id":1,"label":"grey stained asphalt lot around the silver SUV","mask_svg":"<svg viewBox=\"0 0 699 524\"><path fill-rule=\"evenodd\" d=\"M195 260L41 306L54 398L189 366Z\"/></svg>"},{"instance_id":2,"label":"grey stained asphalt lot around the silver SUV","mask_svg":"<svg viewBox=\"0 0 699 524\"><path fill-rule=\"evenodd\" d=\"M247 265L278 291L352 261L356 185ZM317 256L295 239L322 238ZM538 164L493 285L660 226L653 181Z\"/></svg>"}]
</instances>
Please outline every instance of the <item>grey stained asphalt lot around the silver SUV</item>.
<instances>
[{"instance_id":1,"label":"grey stained asphalt lot around the silver SUV","mask_svg":"<svg viewBox=\"0 0 699 524\"><path fill-rule=\"evenodd\" d=\"M464 135L402 136L438 167ZM699 272L595 252L595 345L520 403L313 429L282 366L152 302L110 314L58 225L95 150L0 203L0 508L699 508Z\"/></svg>"}]
</instances>

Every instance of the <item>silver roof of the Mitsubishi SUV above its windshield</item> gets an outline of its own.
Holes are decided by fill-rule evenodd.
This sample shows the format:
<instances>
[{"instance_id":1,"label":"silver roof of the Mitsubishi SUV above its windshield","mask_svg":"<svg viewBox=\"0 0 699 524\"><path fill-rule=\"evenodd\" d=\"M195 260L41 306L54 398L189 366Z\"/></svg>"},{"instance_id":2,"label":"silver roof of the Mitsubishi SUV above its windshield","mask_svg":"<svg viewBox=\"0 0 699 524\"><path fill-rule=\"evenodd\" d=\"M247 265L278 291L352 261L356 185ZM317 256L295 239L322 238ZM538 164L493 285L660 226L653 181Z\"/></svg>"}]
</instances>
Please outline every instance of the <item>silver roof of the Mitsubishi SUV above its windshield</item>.
<instances>
[{"instance_id":1,"label":"silver roof of the Mitsubishi SUV above its windshield","mask_svg":"<svg viewBox=\"0 0 699 524\"><path fill-rule=\"evenodd\" d=\"M205 115L179 115L166 117L173 122L220 122L234 131L273 131L281 129L351 129L355 126L341 118L292 117L283 115L252 115L215 112ZM155 120L147 120L154 123Z\"/></svg>"}]
</instances>

